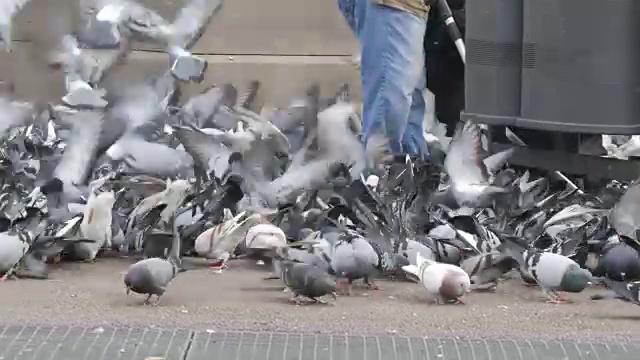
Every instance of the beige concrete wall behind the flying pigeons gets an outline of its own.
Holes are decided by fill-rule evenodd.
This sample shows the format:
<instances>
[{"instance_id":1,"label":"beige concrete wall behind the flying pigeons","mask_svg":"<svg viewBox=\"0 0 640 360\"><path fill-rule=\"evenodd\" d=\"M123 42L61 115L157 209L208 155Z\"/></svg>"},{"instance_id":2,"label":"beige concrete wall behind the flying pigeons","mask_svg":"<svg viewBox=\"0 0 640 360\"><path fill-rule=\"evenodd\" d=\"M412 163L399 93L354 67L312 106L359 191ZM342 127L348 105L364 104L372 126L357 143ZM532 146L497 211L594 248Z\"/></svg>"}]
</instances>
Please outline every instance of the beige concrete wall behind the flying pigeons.
<instances>
[{"instance_id":1,"label":"beige concrete wall behind the flying pigeons","mask_svg":"<svg viewBox=\"0 0 640 360\"><path fill-rule=\"evenodd\" d=\"M15 81L21 97L53 99L61 94L62 77L44 66L45 40L51 33L47 15L73 9L77 0L32 0L16 18L16 44L0 54L0 77ZM183 1L143 0L167 19ZM73 11L73 10L70 10ZM281 104L311 82L331 93L340 83L356 89L357 70L350 57L357 49L335 0L226 0L222 10L195 47L207 55L209 71L198 91L211 83L263 82L266 100ZM166 57L141 44L118 78L136 80L161 71Z\"/></svg>"}]
</instances>

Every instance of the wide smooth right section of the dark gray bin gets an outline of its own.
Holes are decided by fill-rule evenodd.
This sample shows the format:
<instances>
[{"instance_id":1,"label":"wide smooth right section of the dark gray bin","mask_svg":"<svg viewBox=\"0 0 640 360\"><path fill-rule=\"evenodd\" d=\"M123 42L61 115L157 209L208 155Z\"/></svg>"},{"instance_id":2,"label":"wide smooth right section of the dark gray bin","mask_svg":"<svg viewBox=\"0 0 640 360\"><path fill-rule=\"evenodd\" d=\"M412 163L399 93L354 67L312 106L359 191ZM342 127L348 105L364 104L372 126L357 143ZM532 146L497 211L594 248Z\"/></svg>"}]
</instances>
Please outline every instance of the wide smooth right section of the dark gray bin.
<instances>
[{"instance_id":1,"label":"wide smooth right section of the dark gray bin","mask_svg":"<svg viewBox=\"0 0 640 360\"><path fill-rule=\"evenodd\" d=\"M517 126L640 134L640 1L524 0L521 103Z\"/></svg>"}]
</instances>

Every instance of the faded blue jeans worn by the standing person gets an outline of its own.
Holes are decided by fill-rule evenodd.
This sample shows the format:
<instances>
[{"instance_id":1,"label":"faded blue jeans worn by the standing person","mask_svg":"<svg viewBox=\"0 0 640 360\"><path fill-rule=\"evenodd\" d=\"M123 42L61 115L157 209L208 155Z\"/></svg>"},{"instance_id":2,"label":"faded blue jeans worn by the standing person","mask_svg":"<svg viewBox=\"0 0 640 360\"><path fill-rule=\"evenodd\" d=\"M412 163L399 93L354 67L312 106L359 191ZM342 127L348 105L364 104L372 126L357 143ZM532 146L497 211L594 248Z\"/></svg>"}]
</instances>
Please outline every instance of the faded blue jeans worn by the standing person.
<instances>
[{"instance_id":1,"label":"faded blue jeans worn by the standing person","mask_svg":"<svg viewBox=\"0 0 640 360\"><path fill-rule=\"evenodd\" d=\"M390 150L428 155L423 135L427 20L371 0L338 0L362 46L362 127L382 132Z\"/></svg>"}]
</instances>

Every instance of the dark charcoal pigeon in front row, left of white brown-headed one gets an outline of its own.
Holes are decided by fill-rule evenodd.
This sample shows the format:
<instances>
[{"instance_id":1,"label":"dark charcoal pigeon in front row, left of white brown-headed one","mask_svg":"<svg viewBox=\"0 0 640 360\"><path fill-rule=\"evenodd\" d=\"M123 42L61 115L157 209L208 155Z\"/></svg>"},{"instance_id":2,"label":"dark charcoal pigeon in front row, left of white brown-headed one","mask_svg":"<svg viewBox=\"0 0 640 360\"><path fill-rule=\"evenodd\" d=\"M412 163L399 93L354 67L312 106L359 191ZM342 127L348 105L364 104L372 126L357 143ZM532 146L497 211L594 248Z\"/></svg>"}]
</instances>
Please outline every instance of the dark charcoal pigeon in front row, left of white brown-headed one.
<instances>
[{"instance_id":1,"label":"dark charcoal pigeon in front row, left of white brown-headed one","mask_svg":"<svg viewBox=\"0 0 640 360\"><path fill-rule=\"evenodd\" d=\"M319 299L324 295L331 295L335 299L336 282L331 275L322 268L288 259L287 249L279 248L275 260L280 263L282 281L293 293L291 302L301 304L302 296L320 304L326 304Z\"/></svg>"}]
</instances>

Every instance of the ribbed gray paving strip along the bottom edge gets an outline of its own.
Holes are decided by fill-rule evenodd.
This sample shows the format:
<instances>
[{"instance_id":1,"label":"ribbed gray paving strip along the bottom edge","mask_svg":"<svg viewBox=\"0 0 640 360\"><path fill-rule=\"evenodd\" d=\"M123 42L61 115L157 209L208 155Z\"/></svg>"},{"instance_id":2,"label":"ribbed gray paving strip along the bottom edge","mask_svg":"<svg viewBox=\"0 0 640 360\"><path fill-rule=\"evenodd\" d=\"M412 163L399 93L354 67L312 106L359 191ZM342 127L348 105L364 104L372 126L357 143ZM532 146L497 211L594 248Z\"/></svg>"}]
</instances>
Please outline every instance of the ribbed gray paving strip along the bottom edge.
<instances>
[{"instance_id":1,"label":"ribbed gray paving strip along the bottom edge","mask_svg":"<svg viewBox=\"0 0 640 360\"><path fill-rule=\"evenodd\" d=\"M636 360L639 344L157 328L0 329L0 360Z\"/></svg>"}]
</instances>

